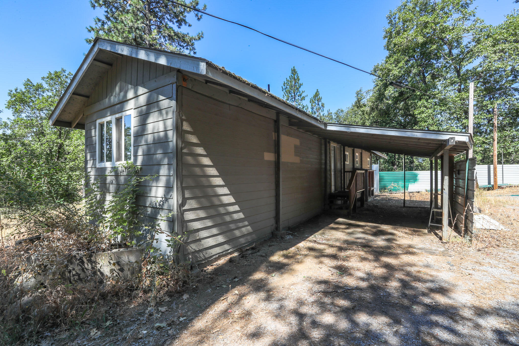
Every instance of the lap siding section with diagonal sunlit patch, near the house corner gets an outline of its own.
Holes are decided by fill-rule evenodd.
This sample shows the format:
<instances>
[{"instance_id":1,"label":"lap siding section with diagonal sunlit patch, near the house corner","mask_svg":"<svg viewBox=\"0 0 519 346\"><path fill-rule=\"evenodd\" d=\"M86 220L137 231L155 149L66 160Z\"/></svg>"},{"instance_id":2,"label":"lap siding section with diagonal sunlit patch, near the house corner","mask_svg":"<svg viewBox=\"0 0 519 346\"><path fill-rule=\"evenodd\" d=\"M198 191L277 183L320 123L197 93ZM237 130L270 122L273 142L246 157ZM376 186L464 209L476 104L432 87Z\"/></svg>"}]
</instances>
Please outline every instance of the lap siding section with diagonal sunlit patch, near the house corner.
<instances>
[{"instance_id":1,"label":"lap siding section with diagonal sunlit patch, near the house corner","mask_svg":"<svg viewBox=\"0 0 519 346\"><path fill-rule=\"evenodd\" d=\"M270 236L275 227L274 121L182 92L185 253L200 263Z\"/></svg>"}]
</instances>

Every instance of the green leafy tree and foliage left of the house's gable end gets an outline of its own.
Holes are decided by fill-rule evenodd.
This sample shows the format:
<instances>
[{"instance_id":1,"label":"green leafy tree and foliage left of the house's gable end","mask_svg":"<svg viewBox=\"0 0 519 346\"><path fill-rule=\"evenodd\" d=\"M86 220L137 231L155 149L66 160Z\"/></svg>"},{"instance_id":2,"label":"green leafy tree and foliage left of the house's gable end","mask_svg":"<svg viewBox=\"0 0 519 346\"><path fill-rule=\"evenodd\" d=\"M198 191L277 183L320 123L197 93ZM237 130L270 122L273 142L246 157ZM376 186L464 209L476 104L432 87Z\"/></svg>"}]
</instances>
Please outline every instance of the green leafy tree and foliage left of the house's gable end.
<instances>
[{"instance_id":1,"label":"green leafy tree and foliage left of the house's gable end","mask_svg":"<svg viewBox=\"0 0 519 346\"><path fill-rule=\"evenodd\" d=\"M0 122L0 212L28 230L72 219L84 169L84 131L50 126L71 73L49 72L9 90Z\"/></svg>"}]
</instances>

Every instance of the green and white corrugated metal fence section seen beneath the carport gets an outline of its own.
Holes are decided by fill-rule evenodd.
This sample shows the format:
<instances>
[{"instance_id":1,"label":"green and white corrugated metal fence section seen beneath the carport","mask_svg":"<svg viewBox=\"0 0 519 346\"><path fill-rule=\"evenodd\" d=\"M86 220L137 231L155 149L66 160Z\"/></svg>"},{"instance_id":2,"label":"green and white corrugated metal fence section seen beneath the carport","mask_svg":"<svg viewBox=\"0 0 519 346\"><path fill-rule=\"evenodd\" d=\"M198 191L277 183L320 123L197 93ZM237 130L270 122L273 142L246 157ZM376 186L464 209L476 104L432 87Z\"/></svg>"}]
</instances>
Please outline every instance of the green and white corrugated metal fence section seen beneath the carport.
<instances>
[{"instance_id":1,"label":"green and white corrugated metal fence section seen beneath the carport","mask_svg":"<svg viewBox=\"0 0 519 346\"><path fill-rule=\"evenodd\" d=\"M390 192L403 191L404 172L379 172L379 189ZM438 186L441 174L438 174ZM406 171L405 190L409 192L429 191L431 188L431 175L429 171Z\"/></svg>"}]
</instances>

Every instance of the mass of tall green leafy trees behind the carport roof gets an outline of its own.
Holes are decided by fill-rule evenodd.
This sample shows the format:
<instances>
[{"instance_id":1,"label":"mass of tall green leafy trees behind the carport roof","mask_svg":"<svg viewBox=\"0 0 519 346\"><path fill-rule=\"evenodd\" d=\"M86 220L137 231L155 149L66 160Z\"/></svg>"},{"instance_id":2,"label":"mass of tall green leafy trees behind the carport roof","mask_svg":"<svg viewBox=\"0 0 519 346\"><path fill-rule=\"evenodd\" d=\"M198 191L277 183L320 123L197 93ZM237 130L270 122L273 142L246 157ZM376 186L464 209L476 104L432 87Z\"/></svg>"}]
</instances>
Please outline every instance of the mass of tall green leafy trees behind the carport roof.
<instances>
[{"instance_id":1,"label":"mass of tall green leafy trees behind the carport roof","mask_svg":"<svg viewBox=\"0 0 519 346\"><path fill-rule=\"evenodd\" d=\"M476 81L474 155L491 163L492 113L498 105L498 150L506 163L519 162L518 79L519 21L516 12L499 25L476 16L471 0L404 0L390 11L385 28L386 58L373 72L373 89L359 90L338 122L395 128L463 131L468 128L469 82ZM394 80L408 88L397 89ZM514 161L515 160L515 161ZM389 155L387 169L401 169L402 158ZM386 163L384 163L386 164ZM413 159L413 169L428 169L427 160Z\"/></svg>"}]
</instances>

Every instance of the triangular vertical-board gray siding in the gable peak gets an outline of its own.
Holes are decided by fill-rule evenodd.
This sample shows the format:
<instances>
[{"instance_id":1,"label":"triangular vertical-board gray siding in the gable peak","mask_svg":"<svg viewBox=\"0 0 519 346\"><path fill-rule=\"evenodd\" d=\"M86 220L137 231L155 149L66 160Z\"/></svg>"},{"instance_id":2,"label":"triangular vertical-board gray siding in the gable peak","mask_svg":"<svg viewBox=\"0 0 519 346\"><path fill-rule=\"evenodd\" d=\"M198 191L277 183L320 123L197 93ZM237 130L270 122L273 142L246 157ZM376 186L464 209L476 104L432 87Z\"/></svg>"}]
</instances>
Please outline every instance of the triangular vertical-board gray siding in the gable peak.
<instances>
[{"instance_id":1,"label":"triangular vertical-board gray siding in the gable peak","mask_svg":"<svg viewBox=\"0 0 519 346\"><path fill-rule=\"evenodd\" d=\"M100 78L86 105L97 103L171 71L170 66L122 56Z\"/></svg>"}]
</instances>

